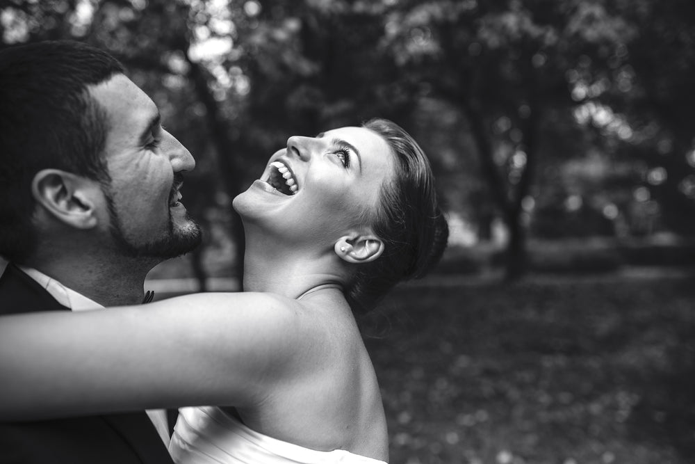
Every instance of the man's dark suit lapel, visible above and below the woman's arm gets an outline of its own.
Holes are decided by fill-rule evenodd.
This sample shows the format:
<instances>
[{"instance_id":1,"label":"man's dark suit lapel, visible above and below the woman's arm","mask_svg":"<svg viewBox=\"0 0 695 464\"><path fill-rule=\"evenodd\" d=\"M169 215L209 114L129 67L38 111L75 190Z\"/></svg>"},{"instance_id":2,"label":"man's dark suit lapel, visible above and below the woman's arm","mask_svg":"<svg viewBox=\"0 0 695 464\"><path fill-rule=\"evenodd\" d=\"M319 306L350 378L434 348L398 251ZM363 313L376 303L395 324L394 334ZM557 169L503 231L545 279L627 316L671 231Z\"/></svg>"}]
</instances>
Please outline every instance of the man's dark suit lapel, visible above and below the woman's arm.
<instances>
[{"instance_id":1,"label":"man's dark suit lapel, visible above and below the woman's arm","mask_svg":"<svg viewBox=\"0 0 695 464\"><path fill-rule=\"evenodd\" d=\"M13 264L0 276L0 314L47 310L69 311ZM140 456L143 463L172 463L167 447L145 411L99 416ZM108 450L104 450L108 452Z\"/></svg>"}]
</instances>

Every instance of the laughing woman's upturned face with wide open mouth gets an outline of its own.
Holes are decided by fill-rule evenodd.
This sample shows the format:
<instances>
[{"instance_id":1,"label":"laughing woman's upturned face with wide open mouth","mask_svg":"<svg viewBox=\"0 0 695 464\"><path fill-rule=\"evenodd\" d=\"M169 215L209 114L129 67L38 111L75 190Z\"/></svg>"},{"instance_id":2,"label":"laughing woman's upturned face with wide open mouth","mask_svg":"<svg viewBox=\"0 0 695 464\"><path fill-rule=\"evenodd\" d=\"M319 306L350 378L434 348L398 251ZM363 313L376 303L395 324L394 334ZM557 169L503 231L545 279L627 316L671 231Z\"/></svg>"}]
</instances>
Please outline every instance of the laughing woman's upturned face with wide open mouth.
<instances>
[{"instance_id":1,"label":"laughing woman's upturned face with wide open mouth","mask_svg":"<svg viewBox=\"0 0 695 464\"><path fill-rule=\"evenodd\" d=\"M392 175L391 148L370 129L295 136L272 155L261 178L234 199L234 208L245 223L260 224L283 239L332 246L359 229Z\"/></svg>"}]
</instances>

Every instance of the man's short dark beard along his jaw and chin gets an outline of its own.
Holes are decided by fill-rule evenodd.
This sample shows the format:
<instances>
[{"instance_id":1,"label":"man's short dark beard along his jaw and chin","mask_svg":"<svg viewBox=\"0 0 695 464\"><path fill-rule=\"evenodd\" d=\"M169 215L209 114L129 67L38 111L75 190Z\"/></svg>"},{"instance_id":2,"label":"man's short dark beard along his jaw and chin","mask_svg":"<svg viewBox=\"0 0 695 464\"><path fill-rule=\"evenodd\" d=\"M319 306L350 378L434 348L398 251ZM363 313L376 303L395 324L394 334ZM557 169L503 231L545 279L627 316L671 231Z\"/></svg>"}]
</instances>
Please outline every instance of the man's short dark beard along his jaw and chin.
<instances>
[{"instance_id":1,"label":"man's short dark beard along his jaw and chin","mask_svg":"<svg viewBox=\"0 0 695 464\"><path fill-rule=\"evenodd\" d=\"M117 248L129 257L170 259L193 251L202 242L203 234L186 212L186 226L174 229L171 210L167 230L160 236L145 243L132 243L123 232L122 221L115 208L115 202L108 186L102 189L108 206L111 238ZM173 191L173 188L172 188Z\"/></svg>"}]
</instances>

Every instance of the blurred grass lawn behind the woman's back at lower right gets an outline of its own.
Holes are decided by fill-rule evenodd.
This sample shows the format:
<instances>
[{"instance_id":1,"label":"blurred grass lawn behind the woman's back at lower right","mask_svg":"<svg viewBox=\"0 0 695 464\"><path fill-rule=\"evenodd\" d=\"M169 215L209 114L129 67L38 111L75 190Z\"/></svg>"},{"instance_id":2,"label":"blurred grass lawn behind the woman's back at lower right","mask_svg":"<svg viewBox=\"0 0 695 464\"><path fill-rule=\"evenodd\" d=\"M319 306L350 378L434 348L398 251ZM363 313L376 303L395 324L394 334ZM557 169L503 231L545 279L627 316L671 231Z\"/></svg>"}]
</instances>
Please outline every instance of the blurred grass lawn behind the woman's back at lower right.
<instances>
[{"instance_id":1,"label":"blurred grass lawn behind the woman's back at lower right","mask_svg":"<svg viewBox=\"0 0 695 464\"><path fill-rule=\"evenodd\" d=\"M400 287L366 324L391 463L694 463L691 280Z\"/></svg>"}]
</instances>

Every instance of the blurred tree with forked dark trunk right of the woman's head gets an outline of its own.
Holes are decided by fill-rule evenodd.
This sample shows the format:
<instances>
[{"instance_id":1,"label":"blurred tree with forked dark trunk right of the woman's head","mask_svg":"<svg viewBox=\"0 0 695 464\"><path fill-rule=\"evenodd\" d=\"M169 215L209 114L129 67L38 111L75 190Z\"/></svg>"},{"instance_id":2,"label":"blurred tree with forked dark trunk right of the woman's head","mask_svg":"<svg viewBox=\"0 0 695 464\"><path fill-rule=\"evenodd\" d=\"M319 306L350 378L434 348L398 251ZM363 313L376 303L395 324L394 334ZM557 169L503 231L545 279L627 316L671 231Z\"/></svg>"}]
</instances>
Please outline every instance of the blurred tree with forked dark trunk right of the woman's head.
<instances>
[{"instance_id":1,"label":"blurred tree with forked dark trunk right of the woman's head","mask_svg":"<svg viewBox=\"0 0 695 464\"><path fill-rule=\"evenodd\" d=\"M577 104L573 76L583 67L601 72L605 60L591 58L632 30L601 2L575 0L406 1L391 15L386 40L396 60L466 115L461 130L473 137L509 230L507 277L515 278L525 270L525 208L541 153L567 158L585 148L550 136L576 126L563 122Z\"/></svg>"}]
</instances>

